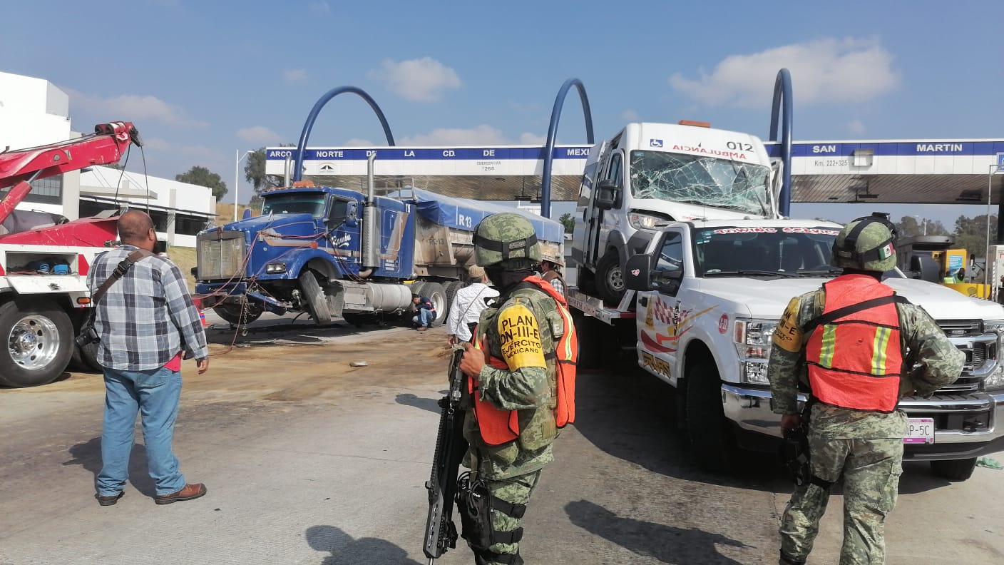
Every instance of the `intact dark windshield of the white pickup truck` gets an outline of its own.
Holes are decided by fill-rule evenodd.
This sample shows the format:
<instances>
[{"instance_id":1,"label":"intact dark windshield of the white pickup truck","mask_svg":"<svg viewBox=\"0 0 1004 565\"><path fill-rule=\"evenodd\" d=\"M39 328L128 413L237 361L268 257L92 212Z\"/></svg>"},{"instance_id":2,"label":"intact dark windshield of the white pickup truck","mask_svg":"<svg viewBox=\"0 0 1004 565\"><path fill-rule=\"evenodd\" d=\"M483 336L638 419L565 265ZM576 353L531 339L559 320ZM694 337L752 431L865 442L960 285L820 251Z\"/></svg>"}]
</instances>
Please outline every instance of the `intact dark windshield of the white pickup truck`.
<instances>
[{"instance_id":1,"label":"intact dark windshield of the white pickup truck","mask_svg":"<svg viewBox=\"0 0 1004 565\"><path fill-rule=\"evenodd\" d=\"M827 276L834 227L709 227L694 231L698 276Z\"/></svg>"}]
</instances>

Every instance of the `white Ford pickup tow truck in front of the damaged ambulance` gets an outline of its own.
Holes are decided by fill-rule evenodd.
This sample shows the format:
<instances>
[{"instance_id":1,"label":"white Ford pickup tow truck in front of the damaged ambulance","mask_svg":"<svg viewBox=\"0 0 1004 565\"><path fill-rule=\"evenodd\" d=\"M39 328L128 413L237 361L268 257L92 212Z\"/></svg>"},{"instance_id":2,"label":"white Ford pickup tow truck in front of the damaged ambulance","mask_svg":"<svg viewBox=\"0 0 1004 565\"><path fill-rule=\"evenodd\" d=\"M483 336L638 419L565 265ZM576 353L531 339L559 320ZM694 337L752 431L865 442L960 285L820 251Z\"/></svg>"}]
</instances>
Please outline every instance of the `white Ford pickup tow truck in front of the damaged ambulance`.
<instances>
[{"instance_id":1,"label":"white Ford pickup tow truck in front of the damaged ambulance","mask_svg":"<svg viewBox=\"0 0 1004 565\"><path fill-rule=\"evenodd\" d=\"M776 446L780 417L771 411L767 381L771 335L792 297L839 272L829 259L840 228L758 218L641 230L633 239L645 251L624 265L629 292L620 305L606 307L574 289L569 303L586 316L634 328L639 365L678 390L699 463L722 468L737 446ZM906 458L930 460L935 474L966 480L979 455L1004 448L998 354L1004 308L898 269L885 282L924 307L966 353L956 383L900 404L911 418Z\"/></svg>"}]
</instances>

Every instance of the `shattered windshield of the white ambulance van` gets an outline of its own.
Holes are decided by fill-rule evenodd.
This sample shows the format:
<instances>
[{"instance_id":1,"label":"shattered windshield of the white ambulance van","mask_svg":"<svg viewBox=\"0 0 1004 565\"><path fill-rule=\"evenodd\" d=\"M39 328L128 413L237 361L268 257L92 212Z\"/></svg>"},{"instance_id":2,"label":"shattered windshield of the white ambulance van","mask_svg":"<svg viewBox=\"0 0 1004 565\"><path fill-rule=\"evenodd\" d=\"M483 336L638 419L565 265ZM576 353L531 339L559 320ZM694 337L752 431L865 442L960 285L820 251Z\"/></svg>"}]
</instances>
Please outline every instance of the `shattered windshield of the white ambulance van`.
<instances>
[{"instance_id":1,"label":"shattered windshield of the white ambulance van","mask_svg":"<svg viewBox=\"0 0 1004 565\"><path fill-rule=\"evenodd\" d=\"M758 216L770 214L770 168L700 155L631 152L635 198L701 204Z\"/></svg>"}]
</instances>

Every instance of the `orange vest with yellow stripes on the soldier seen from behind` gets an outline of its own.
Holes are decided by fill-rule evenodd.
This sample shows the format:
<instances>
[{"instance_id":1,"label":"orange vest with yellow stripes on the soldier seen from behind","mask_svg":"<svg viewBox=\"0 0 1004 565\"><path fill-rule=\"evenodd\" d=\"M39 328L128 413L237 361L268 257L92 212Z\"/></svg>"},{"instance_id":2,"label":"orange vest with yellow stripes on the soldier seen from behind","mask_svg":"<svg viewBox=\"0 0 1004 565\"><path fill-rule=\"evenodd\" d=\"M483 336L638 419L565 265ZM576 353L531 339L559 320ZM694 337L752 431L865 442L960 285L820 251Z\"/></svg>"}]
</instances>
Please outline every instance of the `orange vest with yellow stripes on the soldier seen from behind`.
<instances>
[{"instance_id":1,"label":"orange vest with yellow stripes on the soldier seen from behind","mask_svg":"<svg viewBox=\"0 0 1004 565\"><path fill-rule=\"evenodd\" d=\"M904 370L894 303L905 300L866 274L837 276L823 289L823 313L806 324L814 327L805 348L812 395L843 408L894 411Z\"/></svg>"}]
</instances>

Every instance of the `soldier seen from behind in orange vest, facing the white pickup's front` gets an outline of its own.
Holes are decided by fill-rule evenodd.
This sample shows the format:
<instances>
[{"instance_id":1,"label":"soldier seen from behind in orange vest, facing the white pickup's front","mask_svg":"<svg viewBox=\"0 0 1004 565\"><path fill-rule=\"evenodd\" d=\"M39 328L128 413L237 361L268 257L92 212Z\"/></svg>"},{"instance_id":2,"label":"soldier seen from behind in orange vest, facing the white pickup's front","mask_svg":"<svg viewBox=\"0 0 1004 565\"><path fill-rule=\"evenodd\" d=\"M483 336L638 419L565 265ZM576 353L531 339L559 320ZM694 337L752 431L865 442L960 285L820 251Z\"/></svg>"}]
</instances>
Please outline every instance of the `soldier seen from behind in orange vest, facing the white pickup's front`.
<instances>
[{"instance_id":1,"label":"soldier seen from behind in orange vest, facing the white pickup's front","mask_svg":"<svg viewBox=\"0 0 1004 565\"><path fill-rule=\"evenodd\" d=\"M861 223L863 225L859 226ZM823 396L820 390L812 392L812 405L807 414L812 479L795 489L781 519L781 565L805 563L818 533L819 519L826 510L829 488L841 476L844 520L840 565L885 562L884 522L896 505L897 488L903 473L903 438L907 433L907 415L897 409L896 403L904 395L930 396L935 390L958 379L962 371L965 355L952 345L923 308L900 302L902 299L899 297L896 297L898 300L895 303L883 307L895 307L895 311L887 311L894 313L891 318L893 324L884 328L877 324L856 323L857 332L866 332L868 330L861 328L870 328L874 336L884 333L889 336L890 328L895 327L898 320L899 352L892 349L896 344L887 344L887 349L876 353L880 347L876 344L882 343L880 340L861 340L854 335L853 340L841 341L837 333L842 331L837 328L849 327L841 326L846 320L861 320L862 315L866 319L867 313L873 313L877 307L872 307L871 311L858 310L856 314L832 317L818 326L813 324L806 328L810 321L818 323L814 319L829 312L826 309L827 289L832 292L834 304L843 300L859 305L862 298L872 291L878 295L893 294L892 289L880 282L883 271L896 265L893 239L889 224L882 220L868 217L848 223L833 244L833 264L842 267L843 273L818 291L792 299L774 332L767 375L774 398L774 412L783 414L782 430L794 430L802 423L797 402L800 384L810 386L812 383L813 389L820 390L824 389L823 382L827 387L835 384L836 390L825 388L826 395L849 399L834 404L816 400L816 397ZM848 281L850 286L846 286ZM838 285L831 287L832 282ZM840 282L845 286L840 287ZM850 292L837 295L838 288ZM818 333L815 343L819 344L819 349L816 351L822 351L823 355L813 353L813 333ZM822 336L821 341L819 335ZM895 336L895 333L892 335ZM830 356L854 355L854 348L860 347L866 348L863 351L865 364L873 363L874 359L885 359L887 354L891 358L899 355L904 363L896 370L891 367L886 374L875 374L882 371L873 369L857 373L831 372L830 375L837 375L835 379L818 380L815 375L825 374L818 371L831 370L832 367L827 367L825 355L827 336L831 340ZM860 353L860 350L857 351ZM916 370L908 374L913 367L917 367ZM887 378L893 380L887 381ZM896 389L897 381L899 390ZM871 383L887 387L883 395L892 395L890 409L846 407L854 404L855 396L874 394L869 392L874 390L868 388ZM841 387L843 390L839 390Z\"/></svg>"}]
</instances>

